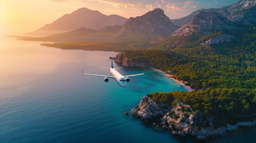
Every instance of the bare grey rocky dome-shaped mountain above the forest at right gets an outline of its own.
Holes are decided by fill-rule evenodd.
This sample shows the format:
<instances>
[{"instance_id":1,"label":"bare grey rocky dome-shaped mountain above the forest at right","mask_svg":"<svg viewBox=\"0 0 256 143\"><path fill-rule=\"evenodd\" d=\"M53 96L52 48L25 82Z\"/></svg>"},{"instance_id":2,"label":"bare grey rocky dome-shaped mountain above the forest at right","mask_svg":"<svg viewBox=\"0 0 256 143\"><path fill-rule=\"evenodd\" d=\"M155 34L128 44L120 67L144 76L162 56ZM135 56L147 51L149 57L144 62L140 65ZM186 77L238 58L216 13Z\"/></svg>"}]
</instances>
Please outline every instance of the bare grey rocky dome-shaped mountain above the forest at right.
<instances>
[{"instance_id":1,"label":"bare grey rocky dome-shaped mountain above the forest at right","mask_svg":"<svg viewBox=\"0 0 256 143\"><path fill-rule=\"evenodd\" d=\"M191 21L178 30L172 36L190 35L192 33L209 34L213 31L235 31L235 24L221 14L213 11L200 10Z\"/></svg>"}]
</instances>

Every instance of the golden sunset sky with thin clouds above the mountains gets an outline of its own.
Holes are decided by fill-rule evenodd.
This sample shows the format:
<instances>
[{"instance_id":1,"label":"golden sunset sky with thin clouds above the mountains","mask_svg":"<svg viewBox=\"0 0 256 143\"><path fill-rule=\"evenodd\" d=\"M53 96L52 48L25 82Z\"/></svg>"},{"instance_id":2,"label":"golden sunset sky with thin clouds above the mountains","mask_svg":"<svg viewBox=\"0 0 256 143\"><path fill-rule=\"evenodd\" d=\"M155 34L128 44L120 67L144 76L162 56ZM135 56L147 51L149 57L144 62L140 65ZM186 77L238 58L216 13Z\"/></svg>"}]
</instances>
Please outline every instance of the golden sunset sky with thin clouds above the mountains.
<instances>
[{"instance_id":1,"label":"golden sunset sky with thin clouds above the mountains","mask_svg":"<svg viewBox=\"0 0 256 143\"><path fill-rule=\"evenodd\" d=\"M0 0L0 36L21 35L52 23L78 8L89 8L126 18L162 8L170 19L201 8L220 8L238 0Z\"/></svg>"}]
</instances>

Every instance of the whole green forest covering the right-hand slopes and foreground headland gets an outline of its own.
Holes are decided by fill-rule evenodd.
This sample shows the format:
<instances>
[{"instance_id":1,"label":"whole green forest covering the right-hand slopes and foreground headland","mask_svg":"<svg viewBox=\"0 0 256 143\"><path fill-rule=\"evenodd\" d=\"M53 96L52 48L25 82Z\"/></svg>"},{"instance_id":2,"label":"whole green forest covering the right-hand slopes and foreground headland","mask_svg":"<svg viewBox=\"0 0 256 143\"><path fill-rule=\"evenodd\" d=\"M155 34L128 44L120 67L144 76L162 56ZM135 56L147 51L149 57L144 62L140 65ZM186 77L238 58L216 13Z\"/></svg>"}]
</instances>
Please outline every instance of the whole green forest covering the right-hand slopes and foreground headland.
<instances>
[{"instance_id":1,"label":"whole green forest covering the right-hand slopes and foreground headland","mask_svg":"<svg viewBox=\"0 0 256 143\"><path fill-rule=\"evenodd\" d=\"M193 113L201 120L211 115L216 119L215 127L225 126L235 124L238 116L256 112L256 33L253 30L236 33L236 41L200 45L221 34L223 31L205 36L169 37L169 41L149 50L124 52L131 60L149 62L153 68L170 71L176 79L186 81L195 89L192 92L156 92L147 96L170 106L184 102L192 106ZM176 47L168 46L177 40L184 42Z\"/></svg>"}]
</instances>

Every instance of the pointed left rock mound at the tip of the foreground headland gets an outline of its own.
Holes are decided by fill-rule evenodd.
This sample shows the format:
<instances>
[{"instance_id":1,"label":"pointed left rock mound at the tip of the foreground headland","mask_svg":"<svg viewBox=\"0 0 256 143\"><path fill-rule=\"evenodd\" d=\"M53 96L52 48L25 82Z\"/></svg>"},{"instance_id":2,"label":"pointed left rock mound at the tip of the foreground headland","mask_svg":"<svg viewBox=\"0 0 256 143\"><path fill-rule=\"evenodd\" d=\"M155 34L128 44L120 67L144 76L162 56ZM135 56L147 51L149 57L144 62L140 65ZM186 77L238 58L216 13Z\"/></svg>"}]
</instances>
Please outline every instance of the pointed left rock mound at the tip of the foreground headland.
<instances>
[{"instance_id":1,"label":"pointed left rock mound at the tip of the foreground headland","mask_svg":"<svg viewBox=\"0 0 256 143\"><path fill-rule=\"evenodd\" d=\"M158 115L164 115L168 111L165 104L156 104L156 102L147 96L144 96L137 108L131 110L131 114L141 120L152 120Z\"/></svg>"}]
</instances>

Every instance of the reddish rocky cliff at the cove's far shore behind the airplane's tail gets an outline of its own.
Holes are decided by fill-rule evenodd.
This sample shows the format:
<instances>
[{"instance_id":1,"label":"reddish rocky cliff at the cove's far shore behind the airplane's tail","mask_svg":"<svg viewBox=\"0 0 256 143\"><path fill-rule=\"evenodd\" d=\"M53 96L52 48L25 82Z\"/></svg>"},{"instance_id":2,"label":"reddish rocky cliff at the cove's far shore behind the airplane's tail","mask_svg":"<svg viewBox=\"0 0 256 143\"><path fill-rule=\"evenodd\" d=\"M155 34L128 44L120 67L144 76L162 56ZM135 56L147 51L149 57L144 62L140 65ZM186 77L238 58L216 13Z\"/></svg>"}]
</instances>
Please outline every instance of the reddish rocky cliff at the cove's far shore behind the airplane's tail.
<instances>
[{"instance_id":1,"label":"reddish rocky cliff at the cove's far shore behind the airplane's tail","mask_svg":"<svg viewBox=\"0 0 256 143\"><path fill-rule=\"evenodd\" d=\"M125 53L120 53L115 56L115 62L123 64L125 67L149 67L149 62L139 62L139 61L133 61L130 58L126 57Z\"/></svg>"}]
</instances>

